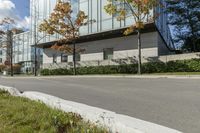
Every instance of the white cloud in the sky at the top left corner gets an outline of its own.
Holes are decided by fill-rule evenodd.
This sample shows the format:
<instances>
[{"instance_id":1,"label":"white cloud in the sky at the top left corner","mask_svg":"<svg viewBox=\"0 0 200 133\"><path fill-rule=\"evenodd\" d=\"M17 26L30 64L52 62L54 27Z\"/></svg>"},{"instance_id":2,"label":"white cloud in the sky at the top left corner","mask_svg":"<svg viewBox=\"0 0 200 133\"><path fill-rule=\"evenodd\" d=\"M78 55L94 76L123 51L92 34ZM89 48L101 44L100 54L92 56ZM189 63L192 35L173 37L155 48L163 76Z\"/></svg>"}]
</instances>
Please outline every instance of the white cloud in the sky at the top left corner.
<instances>
[{"instance_id":1,"label":"white cloud in the sky at the top left corner","mask_svg":"<svg viewBox=\"0 0 200 133\"><path fill-rule=\"evenodd\" d=\"M15 4L11 0L0 0L0 20L4 18L12 18L15 20L14 27L28 29L30 18L25 16L21 18L17 13Z\"/></svg>"}]
</instances>

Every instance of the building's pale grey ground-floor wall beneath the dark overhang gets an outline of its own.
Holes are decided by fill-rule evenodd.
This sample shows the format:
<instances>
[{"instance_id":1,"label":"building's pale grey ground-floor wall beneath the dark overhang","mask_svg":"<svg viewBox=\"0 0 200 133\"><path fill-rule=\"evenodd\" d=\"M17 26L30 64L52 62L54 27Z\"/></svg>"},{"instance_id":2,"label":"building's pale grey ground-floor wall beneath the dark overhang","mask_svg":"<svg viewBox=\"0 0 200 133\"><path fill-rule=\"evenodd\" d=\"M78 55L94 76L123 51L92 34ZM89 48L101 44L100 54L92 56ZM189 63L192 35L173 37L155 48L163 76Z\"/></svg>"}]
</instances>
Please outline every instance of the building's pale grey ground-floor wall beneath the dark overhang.
<instances>
[{"instance_id":1,"label":"building's pale grey ground-floor wall beneath the dark overhang","mask_svg":"<svg viewBox=\"0 0 200 133\"><path fill-rule=\"evenodd\" d=\"M145 33L142 35L142 56L158 56L157 32ZM113 48L113 59L137 58L137 36L125 36L112 39L79 43L76 47L83 48L81 61L103 60L103 49ZM43 52L43 64L53 63L53 55L57 55L57 63L61 63L61 53L52 49L45 49ZM68 62L72 62L72 55L68 56Z\"/></svg>"}]
</instances>

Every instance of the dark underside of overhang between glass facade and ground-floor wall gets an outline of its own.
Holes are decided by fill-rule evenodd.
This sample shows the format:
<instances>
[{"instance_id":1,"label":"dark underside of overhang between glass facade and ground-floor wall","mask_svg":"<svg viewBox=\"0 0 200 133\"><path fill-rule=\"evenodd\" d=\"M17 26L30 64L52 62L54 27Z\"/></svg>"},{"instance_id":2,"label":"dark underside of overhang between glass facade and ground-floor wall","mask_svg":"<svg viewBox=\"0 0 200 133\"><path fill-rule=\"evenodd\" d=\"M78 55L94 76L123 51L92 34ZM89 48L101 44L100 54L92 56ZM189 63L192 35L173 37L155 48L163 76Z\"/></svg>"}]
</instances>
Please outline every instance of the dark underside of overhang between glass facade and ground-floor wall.
<instances>
[{"instance_id":1,"label":"dark underside of overhang between glass facade and ground-floor wall","mask_svg":"<svg viewBox=\"0 0 200 133\"><path fill-rule=\"evenodd\" d=\"M123 33L127 28L128 27L104 31L104 32L98 32L98 33L93 33L93 34L82 35L76 40L76 43L83 43L83 42L90 42L90 41L98 41L98 40L104 40L104 39L123 37L123 36L125 36ZM148 23L148 24L145 24L144 29L141 32L147 33L147 32L154 32L154 31L156 31L155 24L154 23ZM136 35L136 34L137 34L136 32L133 32L130 35ZM40 44L37 44L36 47L46 49L46 48L50 48L55 43L57 43L57 41L40 43ZM69 42L69 44L70 44L70 42ZM32 45L32 47L34 47L34 45Z\"/></svg>"}]
</instances>

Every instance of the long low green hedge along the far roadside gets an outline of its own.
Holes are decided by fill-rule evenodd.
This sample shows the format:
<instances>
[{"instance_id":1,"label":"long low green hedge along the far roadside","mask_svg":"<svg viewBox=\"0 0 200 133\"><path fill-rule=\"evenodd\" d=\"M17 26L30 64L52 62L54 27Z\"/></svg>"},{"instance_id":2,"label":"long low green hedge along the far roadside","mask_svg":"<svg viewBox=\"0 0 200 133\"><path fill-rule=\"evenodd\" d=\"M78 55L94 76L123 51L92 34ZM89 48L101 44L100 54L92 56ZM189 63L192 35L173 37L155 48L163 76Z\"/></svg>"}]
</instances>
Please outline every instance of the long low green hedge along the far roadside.
<instances>
[{"instance_id":1,"label":"long low green hedge along the far roadside","mask_svg":"<svg viewBox=\"0 0 200 133\"><path fill-rule=\"evenodd\" d=\"M200 59L148 62L142 64L142 73L200 72ZM78 67L78 75L86 74L136 74L137 64ZM73 69L43 69L41 75L73 75Z\"/></svg>"}]
</instances>

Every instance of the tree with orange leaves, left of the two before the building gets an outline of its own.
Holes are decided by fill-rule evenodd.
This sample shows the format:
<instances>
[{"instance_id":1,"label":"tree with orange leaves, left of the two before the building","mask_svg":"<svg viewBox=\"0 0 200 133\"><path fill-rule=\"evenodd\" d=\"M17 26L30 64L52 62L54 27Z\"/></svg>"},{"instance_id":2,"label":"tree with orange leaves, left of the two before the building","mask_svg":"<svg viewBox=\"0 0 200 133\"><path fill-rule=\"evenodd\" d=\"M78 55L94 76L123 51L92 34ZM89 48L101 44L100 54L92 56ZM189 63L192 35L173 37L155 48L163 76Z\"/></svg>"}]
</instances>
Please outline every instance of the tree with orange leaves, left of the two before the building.
<instances>
[{"instance_id":1,"label":"tree with orange leaves, left of the two before the building","mask_svg":"<svg viewBox=\"0 0 200 133\"><path fill-rule=\"evenodd\" d=\"M73 53L73 68L76 75L76 53L82 50L76 48L76 40L79 38L79 28L85 25L87 16L83 11L79 11L76 16L73 14L71 4L59 0L51 13L50 18L44 20L39 27L40 31L48 34L59 34L62 39L51 48L62 52ZM73 47L69 45L73 44Z\"/></svg>"}]
</instances>

